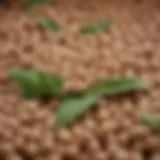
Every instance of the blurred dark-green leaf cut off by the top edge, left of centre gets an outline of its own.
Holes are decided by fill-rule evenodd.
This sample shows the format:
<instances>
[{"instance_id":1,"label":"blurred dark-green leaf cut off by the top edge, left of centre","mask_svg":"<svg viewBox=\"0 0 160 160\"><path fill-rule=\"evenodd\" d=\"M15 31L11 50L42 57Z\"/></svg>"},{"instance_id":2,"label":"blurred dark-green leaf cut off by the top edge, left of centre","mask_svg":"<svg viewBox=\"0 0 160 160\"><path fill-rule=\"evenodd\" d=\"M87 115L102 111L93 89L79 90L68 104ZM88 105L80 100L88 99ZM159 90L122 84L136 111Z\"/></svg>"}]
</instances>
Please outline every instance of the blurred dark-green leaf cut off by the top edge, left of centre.
<instances>
[{"instance_id":1,"label":"blurred dark-green leaf cut off by the top edge, left of centre","mask_svg":"<svg viewBox=\"0 0 160 160\"><path fill-rule=\"evenodd\" d=\"M54 0L25 0L24 8L30 10L34 5L47 5L53 3Z\"/></svg>"}]
</instances>

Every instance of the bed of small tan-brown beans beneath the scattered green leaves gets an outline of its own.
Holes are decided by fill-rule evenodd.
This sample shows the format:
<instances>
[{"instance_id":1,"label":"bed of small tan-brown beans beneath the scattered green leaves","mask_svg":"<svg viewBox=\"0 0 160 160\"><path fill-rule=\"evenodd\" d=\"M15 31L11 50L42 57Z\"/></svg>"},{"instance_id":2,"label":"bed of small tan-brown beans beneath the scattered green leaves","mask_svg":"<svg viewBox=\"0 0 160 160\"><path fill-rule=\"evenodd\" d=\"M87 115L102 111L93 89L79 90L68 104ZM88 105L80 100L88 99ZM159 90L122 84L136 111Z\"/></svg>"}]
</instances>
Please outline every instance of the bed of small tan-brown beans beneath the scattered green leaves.
<instances>
[{"instance_id":1,"label":"bed of small tan-brown beans beneath the scattered green leaves","mask_svg":"<svg viewBox=\"0 0 160 160\"><path fill-rule=\"evenodd\" d=\"M20 5L0 6L0 160L160 160L160 133L139 124L144 106L160 114L159 0L57 0L38 11L63 29L51 33ZM106 19L113 20L109 30L77 34ZM138 76L151 88L103 98L57 128L61 101L23 100L12 68L63 76L65 92L112 76Z\"/></svg>"}]
</instances>

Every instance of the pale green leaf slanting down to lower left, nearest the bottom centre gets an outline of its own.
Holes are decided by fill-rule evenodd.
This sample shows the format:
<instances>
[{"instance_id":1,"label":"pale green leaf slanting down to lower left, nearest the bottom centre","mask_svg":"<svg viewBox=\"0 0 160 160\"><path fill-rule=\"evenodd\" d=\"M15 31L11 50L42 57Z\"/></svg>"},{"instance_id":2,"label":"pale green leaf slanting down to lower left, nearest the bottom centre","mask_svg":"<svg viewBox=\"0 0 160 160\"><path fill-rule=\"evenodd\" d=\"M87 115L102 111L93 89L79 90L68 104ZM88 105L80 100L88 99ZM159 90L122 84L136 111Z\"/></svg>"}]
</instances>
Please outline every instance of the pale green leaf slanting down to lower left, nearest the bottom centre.
<instances>
[{"instance_id":1,"label":"pale green leaf slanting down to lower left, nearest the bottom centre","mask_svg":"<svg viewBox=\"0 0 160 160\"><path fill-rule=\"evenodd\" d=\"M57 112L56 124L67 127L75 119L83 115L88 109L94 106L100 99L95 95L69 96L65 99Z\"/></svg>"}]
</instances>

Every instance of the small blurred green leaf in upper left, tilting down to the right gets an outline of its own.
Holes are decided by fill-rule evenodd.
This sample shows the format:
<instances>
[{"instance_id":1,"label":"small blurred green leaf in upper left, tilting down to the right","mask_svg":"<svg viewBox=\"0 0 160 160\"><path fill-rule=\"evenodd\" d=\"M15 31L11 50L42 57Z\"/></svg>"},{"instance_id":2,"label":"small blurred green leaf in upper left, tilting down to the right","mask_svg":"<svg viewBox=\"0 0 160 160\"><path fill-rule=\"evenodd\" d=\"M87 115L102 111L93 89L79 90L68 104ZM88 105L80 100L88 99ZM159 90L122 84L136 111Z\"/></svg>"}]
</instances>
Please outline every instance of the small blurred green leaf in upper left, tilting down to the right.
<instances>
[{"instance_id":1,"label":"small blurred green leaf in upper left, tilting down to the right","mask_svg":"<svg viewBox=\"0 0 160 160\"><path fill-rule=\"evenodd\" d=\"M58 32L60 30L60 25L48 18L44 18L44 17L38 17L38 24L40 24L43 28L51 31L51 32Z\"/></svg>"}]
</instances>

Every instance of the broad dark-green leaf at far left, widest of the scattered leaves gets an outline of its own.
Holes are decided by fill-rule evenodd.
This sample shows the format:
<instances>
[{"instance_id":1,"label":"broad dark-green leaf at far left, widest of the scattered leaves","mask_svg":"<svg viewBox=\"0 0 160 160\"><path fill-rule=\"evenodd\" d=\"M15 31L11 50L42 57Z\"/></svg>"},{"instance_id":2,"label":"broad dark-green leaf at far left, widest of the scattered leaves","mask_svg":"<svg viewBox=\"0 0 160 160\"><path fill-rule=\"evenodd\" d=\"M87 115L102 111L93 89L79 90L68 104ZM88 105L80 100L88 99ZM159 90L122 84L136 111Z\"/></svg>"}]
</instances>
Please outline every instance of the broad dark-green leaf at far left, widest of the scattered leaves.
<instances>
[{"instance_id":1,"label":"broad dark-green leaf at far left, widest of the scattered leaves","mask_svg":"<svg viewBox=\"0 0 160 160\"><path fill-rule=\"evenodd\" d=\"M21 87L24 99L53 96L61 92L63 79L35 70L11 70L10 77Z\"/></svg>"}]
</instances>

